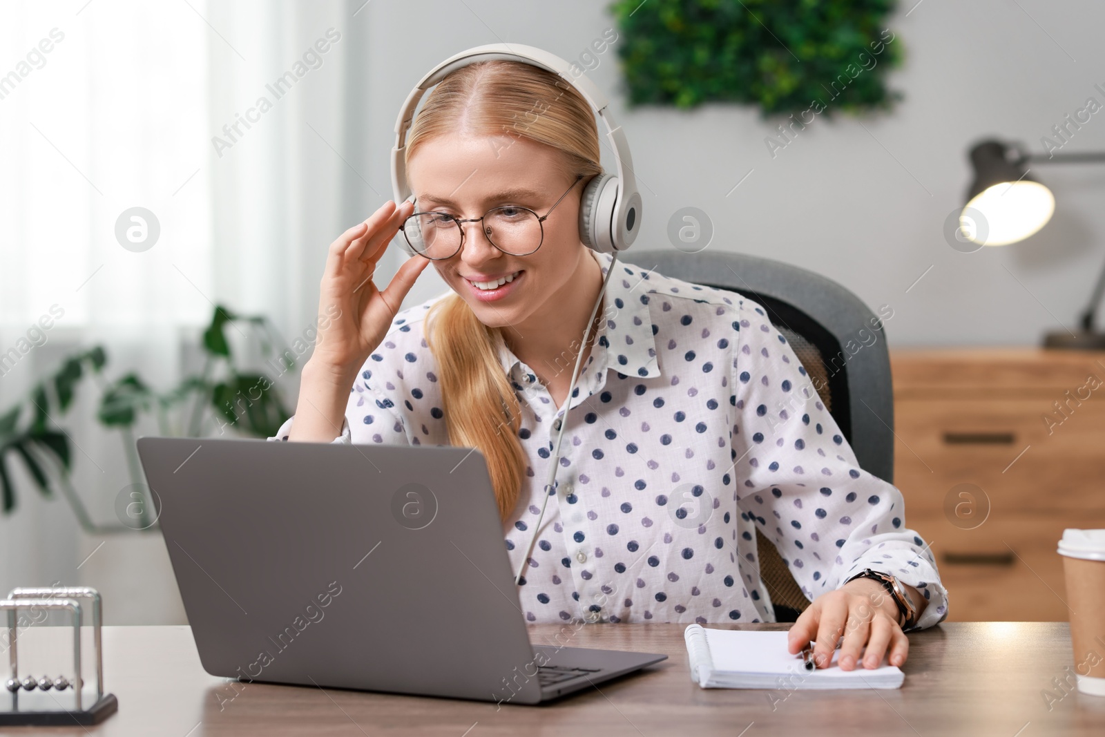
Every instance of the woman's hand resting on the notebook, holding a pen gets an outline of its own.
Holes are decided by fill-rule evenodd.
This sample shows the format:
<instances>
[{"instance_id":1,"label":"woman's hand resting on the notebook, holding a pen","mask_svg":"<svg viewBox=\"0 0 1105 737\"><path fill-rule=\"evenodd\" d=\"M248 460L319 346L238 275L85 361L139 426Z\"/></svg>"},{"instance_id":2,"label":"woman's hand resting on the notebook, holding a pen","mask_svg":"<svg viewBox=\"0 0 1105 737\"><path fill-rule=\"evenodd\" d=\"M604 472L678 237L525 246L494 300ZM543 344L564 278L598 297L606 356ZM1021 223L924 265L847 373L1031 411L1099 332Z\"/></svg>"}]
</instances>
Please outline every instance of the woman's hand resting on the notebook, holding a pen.
<instances>
[{"instance_id":1,"label":"woman's hand resting on the notebook, holding a pen","mask_svg":"<svg viewBox=\"0 0 1105 737\"><path fill-rule=\"evenodd\" d=\"M871 579L849 581L814 599L790 628L787 647L797 654L812 640L813 662L818 667L829 667L841 635L836 662L842 671L853 670L861 652L866 668L882 664L887 646L891 665L901 666L909 652L909 640L898 627L897 604L881 583Z\"/></svg>"}]
</instances>

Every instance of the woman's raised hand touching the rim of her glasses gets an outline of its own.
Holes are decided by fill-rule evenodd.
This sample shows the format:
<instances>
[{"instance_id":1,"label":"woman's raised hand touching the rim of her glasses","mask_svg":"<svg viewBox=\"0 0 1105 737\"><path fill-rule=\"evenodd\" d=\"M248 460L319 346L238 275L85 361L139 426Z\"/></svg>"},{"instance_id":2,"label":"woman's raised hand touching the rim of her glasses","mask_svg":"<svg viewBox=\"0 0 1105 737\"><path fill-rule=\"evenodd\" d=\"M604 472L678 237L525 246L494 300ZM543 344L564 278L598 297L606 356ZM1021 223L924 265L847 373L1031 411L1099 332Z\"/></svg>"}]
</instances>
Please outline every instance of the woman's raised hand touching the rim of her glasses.
<instances>
[{"instance_id":1,"label":"woman's raised hand touching the rim of her glasses","mask_svg":"<svg viewBox=\"0 0 1105 737\"><path fill-rule=\"evenodd\" d=\"M429 259L408 259L380 292L372 274L399 225L414 210L412 202L399 208L392 200L330 244L319 285L318 338L309 362L335 377L356 377L357 371L391 328L399 307Z\"/></svg>"}]
</instances>

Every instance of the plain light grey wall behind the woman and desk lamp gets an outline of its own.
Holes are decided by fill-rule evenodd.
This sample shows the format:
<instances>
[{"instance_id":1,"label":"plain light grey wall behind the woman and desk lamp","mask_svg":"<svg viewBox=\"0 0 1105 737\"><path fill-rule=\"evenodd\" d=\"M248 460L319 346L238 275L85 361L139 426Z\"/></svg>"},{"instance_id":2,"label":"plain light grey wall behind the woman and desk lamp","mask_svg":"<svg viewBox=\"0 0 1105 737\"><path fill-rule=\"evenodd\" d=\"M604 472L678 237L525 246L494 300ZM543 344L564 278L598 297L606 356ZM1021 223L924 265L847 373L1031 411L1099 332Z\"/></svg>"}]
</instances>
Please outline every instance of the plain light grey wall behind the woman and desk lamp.
<instances>
[{"instance_id":1,"label":"plain light grey wall behind the woman and desk lamp","mask_svg":"<svg viewBox=\"0 0 1105 737\"><path fill-rule=\"evenodd\" d=\"M1066 113L1091 95L1105 104L1094 90L1095 83L1105 86L1105 46L1097 38L1105 6L914 2L903 0L890 21L894 43L905 48L904 65L890 75L891 87L905 93L899 106L859 120L817 116L774 159L765 137L781 120L762 122L754 108L723 104L628 112L619 92L620 59L612 51L603 55L589 76L610 96L627 131L644 198L642 235L633 249L671 248L669 218L693 206L714 222L711 249L798 264L844 284L873 307L892 305L892 348L1036 345L1044 331L1062 329L1056 320L1073 329L1105 264L1105 213L1098 206L1105 166L1034 168L1055 193L1056 212L1020 244L959 253L947 245L943 227L962 204L970 179L967 149L975 140L993 135L1043 152L1041 136ZM358 14L368 13L359 27L364 117L351 127L349 144L361 147L357 160L383 197L356 182L356 207L347 202L346 220L355 223L391 198L394 119L435 63L494 42L573 59L614 24L604 8L590 0L555 7L532 0L369 3ZM418 33L406 32L415 21ZM1105 113L1063 150L1105 150ZM632 254L622 259L632 263ZM383 270L387 277L401 257ZM386 283L385 275L377 281ZM428 269L404 306L444 288Z\"/></svg>"}]
</instances>

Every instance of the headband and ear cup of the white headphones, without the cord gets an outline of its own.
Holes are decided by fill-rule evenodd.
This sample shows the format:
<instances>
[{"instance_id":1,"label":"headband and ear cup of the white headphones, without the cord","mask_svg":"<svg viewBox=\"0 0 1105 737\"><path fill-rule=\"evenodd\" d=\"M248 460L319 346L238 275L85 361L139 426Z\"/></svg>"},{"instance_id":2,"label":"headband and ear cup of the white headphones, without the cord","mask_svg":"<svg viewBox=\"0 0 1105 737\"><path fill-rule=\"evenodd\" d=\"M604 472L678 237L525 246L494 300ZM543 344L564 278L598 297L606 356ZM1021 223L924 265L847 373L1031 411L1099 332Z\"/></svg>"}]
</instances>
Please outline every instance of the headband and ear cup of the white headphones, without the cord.
<instances>
[{"instance_id":1,"label":"headband and ear cup of the white headphones, without the cord","mask_svg":"<svg viewBox=\"0 0 1105 737\"><path fill-rule=\"evenodd\" d=\"M633 159L630 156L625 134L621 126L614 123L613 116L607 109L609 102L606 95L599 91L593 82L582 74L575 76L568 62L536 46L505 43L474 46L450 56L434 66L411 90L407 102L403 103L399 112L399 118L396 120L396 145L391 149L391 188L396 202L402 202L411 194L410 188L407 186L407 165L403 152L407 145L407 130L413 122L414 108L418 107L422 95L425 94L427 90L462 66L490 60L522 62L559 75L583 96L602 119L607 127L607 139L614 152L614 166L618 175L617 179L610 175L600 175L588 185L581 200L580 232L585 243L596 251L609 253L628 249L636 239L636 233L640 230L642 208L641 194L633 177ZM604 217L606 212L609 212L609 218Z\"/></svg>"}]
</instances>

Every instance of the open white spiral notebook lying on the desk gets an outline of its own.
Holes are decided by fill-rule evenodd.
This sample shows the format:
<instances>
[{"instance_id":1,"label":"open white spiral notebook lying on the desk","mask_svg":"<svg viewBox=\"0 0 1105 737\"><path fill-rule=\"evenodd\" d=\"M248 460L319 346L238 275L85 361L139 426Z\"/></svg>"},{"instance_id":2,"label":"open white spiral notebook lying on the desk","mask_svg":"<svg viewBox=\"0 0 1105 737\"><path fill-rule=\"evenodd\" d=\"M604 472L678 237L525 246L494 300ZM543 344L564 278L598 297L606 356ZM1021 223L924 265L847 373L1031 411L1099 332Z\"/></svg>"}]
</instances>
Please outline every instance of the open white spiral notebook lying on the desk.
<instances>
[{"instance_id":1,"label":"open white spiral notebook lying on the desk","mask_svg":"<svg viewBox=\"0 0 1105 737\"><path fill-rule=\"evenodd\" d=\"M901 688L896 665L842 671L833 651L827 668L807 671L801 653L787 652L787 632L711 630L691 624L683 632L691 680L703 688Z\"/></svg>"}]
</instances>

